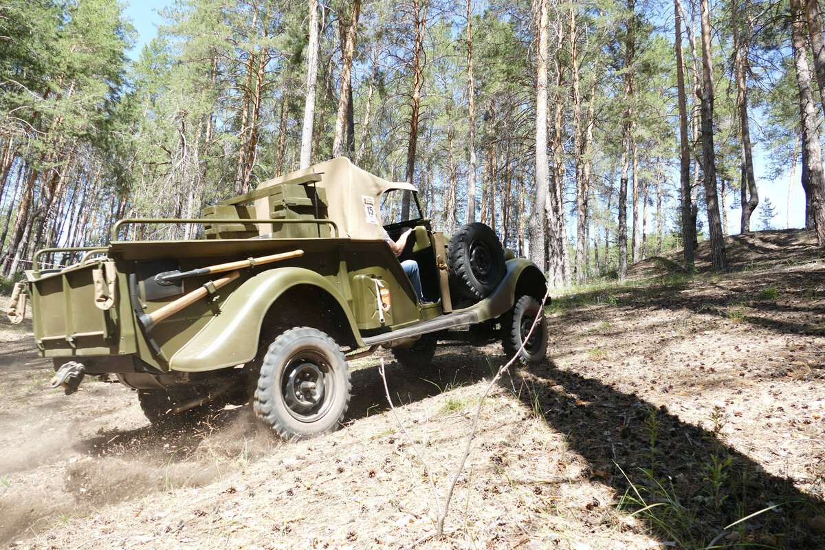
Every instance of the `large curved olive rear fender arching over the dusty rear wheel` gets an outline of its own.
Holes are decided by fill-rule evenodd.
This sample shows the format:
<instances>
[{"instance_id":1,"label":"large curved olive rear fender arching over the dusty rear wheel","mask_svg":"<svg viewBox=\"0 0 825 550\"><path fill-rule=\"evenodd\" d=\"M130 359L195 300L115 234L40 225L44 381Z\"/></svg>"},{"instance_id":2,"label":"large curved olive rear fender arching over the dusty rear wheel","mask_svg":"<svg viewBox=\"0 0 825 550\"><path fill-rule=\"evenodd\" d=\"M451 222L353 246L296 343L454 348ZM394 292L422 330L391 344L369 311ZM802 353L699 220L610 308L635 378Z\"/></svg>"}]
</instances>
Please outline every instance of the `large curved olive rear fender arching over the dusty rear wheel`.
<instances>
[{"instance_id":1,"label":"large curved olive rear fender arching over the dusty rear wheel","mask_svg":"<svg viewBox=\"0 0 825 550\"><path fill-rule=\"evenodd\" d=\"M281 267L243 281L221 304L219 313L172 355L169 368L201 372L251 361L257 354L266 312L282 294L299 284L315 286L336 299L350 322L356 342L363 345L355 318L334 284L311 270Z\"/></svg>"}]
</instances>

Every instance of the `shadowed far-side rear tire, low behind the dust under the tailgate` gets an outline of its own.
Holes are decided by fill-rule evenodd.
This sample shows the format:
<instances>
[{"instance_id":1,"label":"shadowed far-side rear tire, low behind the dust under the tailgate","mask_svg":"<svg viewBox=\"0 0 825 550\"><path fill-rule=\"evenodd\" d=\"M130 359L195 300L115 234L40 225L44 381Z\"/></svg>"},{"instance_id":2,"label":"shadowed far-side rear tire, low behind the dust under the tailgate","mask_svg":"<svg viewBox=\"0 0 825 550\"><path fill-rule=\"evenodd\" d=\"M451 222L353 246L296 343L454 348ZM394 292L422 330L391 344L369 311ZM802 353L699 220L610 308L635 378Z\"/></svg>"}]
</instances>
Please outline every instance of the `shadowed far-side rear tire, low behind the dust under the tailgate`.
<instances>
[{"instance_id":1,"label":"shadowed far-side rear tire, low behind the dust under the tailgate","mask_svg":"<svg viewBox=\"0 0 825 550\"><path fill-rule=\"evenodd\" d=\"M203 405L187 408L185 411L175 412L176 407L208 397L207 393L200 393L196 388L174 388L158 390L138 390L138 401L144 416L152 425L160 427L196 425L224 408L227 396L217 397L214 401Z\"/></svg>"}]
</instances>

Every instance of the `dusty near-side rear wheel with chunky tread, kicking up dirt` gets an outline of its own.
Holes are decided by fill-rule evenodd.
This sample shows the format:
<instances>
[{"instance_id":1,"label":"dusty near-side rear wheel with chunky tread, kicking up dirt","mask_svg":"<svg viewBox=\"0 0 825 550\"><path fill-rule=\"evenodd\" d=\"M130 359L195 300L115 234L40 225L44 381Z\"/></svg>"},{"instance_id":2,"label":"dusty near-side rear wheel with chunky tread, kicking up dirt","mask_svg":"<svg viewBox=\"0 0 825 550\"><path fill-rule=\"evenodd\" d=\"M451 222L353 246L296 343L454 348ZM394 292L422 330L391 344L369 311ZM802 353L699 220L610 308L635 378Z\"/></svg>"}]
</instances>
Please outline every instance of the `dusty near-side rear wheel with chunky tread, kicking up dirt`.
<instances>
[{"instance_id":1,"label":"dusty near-side rear wheel with chunky tread, kicking up dirt","mask_svg":"<svg viewBox=\"0 0 825 550\"><path fill-rule=\"evenodd\" d=\"M335 341L315 328L293 328L266 351L253 408L283 439L304 440L341 427L351 388Z\"/></svg>"}]
</instances>

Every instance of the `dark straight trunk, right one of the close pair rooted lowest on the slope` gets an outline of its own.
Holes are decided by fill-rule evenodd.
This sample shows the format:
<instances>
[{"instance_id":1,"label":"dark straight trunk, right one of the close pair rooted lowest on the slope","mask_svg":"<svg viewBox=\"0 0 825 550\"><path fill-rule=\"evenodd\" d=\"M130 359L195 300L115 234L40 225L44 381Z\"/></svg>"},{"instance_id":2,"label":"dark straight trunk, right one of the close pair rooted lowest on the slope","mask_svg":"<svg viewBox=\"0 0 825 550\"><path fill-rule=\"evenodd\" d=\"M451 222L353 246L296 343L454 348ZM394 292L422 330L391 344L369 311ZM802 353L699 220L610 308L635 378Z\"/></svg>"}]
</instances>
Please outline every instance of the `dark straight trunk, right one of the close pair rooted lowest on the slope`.
<instances>
[{"instance_id":1,"label":"dark straight trunk, right one of the close pair rooted lowest on the slope","mask_svg":"<svg viewBox=\"0 0 825 550\"><path fill-rule=\"evenodd\" d=\"M705 170L705 204L708 207L708 229L713 269L725 270L728 261L724 248L722 220L716 190L716 155L714 152L714 77L713 54L710 49L710 13L708 0L701 0L702 17L702 165Z\"/></svg>"}]
</instances>

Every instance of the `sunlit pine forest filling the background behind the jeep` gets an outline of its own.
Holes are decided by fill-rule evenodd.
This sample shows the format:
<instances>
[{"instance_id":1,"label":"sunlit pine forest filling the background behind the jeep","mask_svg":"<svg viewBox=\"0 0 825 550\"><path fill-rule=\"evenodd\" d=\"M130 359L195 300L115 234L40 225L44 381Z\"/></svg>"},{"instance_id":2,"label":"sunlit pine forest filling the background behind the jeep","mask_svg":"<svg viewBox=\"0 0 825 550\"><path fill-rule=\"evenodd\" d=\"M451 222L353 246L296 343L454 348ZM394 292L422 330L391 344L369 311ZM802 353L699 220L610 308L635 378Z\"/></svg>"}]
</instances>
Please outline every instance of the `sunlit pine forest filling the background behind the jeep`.
<instances>
[{"instance_id":1,"label":"sunlit pine forest filling the background behind the jeep","mask_svg":"<svg viewBox=\"0 0 825 550\"><path fill-rule=\"evenodd\" d=\"M817 0L177 0L134 60L123 10L0 7L4 277L339 156L557 287L705 239L724 270L724 235L784 225L757 178L825 246Z\"/></svg>"}]
</instances>

